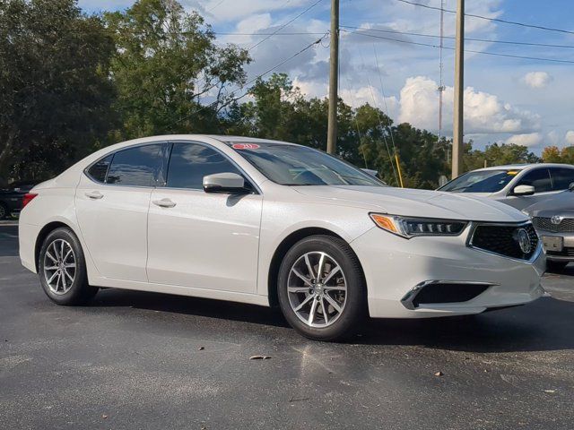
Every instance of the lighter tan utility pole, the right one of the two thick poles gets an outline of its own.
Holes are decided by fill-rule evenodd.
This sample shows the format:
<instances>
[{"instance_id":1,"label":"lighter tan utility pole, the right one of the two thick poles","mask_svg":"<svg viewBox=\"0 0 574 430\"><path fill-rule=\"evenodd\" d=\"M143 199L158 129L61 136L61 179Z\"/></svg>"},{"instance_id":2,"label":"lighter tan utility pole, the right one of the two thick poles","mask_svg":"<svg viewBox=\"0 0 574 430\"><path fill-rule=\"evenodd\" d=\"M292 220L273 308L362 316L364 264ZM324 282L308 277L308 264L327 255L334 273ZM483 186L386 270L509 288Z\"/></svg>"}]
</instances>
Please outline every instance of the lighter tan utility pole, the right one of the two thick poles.
<instances>
[{"instance_id":1,"label":"lighter tan utility pole, the right one of the two thick poles","mask_svg":"<svg viewBox=\"0 0 574 430\"><path fill-rule=\"evenodd\" d=\"M457 42L455 44L455 118L452 142L452 178L463 164L463 110L465 95L465 0L457 0Z\"/></svg>"}]
</instances>

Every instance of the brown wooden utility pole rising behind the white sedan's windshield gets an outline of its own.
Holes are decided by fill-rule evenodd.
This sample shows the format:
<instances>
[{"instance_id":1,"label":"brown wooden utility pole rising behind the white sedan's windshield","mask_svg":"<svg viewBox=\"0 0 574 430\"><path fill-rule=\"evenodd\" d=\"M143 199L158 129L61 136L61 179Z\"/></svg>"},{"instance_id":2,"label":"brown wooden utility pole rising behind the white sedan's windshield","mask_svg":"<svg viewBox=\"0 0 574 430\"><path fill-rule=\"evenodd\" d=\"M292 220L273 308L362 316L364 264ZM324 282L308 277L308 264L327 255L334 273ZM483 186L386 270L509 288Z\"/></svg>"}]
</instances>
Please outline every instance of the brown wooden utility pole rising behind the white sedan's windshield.
<instances>
[{"instance_id":1,"label":"brown wooden utility pole rising behind the white sedan's windshield","mask_svg":"<svg viewBox=\"0 0 574 430\"><path fill-rule=\"evenodd\" d=\"M337 86L339 78L339 0L331 0L331 55L329 60L329 120L326 151L335 154L337 143Z\"/></svg>"}]
</instances>

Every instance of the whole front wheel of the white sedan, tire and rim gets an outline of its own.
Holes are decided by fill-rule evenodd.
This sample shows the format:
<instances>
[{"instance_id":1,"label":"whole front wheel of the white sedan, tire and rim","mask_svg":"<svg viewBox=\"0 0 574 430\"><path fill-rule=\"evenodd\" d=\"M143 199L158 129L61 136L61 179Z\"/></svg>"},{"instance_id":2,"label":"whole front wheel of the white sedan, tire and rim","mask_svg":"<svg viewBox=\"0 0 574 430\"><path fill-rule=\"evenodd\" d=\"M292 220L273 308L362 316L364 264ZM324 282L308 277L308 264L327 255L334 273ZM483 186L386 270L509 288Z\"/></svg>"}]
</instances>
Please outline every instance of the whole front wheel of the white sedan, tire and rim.
<instances>
[{"instance_id":1,"label":"whole front wheel of the white sedan, tire and rim","mask_svg":"<svg viewBox=\"0 0 574 430\"><path fill-rule=\"evenodd\" d=\"M291 327L314 340L341 340L365 315L367 288L357 256L344 240L309 236L283 258L279 304Z\"/></svg>"}]
</instances>

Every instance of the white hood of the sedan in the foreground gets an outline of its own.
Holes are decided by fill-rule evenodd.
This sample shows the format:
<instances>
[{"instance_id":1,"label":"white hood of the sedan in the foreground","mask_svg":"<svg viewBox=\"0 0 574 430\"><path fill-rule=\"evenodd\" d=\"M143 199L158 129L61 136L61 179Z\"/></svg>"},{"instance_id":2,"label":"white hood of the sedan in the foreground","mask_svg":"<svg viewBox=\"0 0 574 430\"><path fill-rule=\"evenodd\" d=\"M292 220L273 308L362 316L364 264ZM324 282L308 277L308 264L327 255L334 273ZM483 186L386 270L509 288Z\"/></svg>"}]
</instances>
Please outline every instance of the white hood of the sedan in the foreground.
<instances>
[{"instance_id":1,"label":"white hood of the sedan in the foreground","mask_svg":"<svg viewBox=\"0 0 574 430\"><path fill-rule=\"evenodd\" d=\"M491 222L519 222L528 219L506 204L460 193L361 185L309 185L293 188L314 200L353 205L393 215Z\"/></svg>"}]
</instances>

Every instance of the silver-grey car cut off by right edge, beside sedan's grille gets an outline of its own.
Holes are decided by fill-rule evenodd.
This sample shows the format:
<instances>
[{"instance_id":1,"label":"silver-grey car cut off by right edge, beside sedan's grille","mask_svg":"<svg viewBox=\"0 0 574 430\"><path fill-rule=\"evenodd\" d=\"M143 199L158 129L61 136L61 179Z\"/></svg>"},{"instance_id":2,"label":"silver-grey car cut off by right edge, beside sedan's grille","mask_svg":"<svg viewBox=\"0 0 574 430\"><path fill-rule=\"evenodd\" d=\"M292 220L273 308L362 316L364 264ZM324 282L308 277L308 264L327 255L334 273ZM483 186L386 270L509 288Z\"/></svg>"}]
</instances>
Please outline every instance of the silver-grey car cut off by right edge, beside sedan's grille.
<instances>
[{"instance_id":1,"label":"silver-grey car cut off by right edge, beside sedan's grille","mask_svg":"<svg viewBox=\"0 0 574 430\"><path fill-rule=\"evenodd\" d=\"M574 262L574 183L570 190L528 206L523 212L532 218L542 237L550 271L560 271Z\"/></svg>"}]
</instances>

